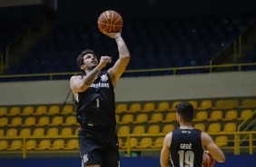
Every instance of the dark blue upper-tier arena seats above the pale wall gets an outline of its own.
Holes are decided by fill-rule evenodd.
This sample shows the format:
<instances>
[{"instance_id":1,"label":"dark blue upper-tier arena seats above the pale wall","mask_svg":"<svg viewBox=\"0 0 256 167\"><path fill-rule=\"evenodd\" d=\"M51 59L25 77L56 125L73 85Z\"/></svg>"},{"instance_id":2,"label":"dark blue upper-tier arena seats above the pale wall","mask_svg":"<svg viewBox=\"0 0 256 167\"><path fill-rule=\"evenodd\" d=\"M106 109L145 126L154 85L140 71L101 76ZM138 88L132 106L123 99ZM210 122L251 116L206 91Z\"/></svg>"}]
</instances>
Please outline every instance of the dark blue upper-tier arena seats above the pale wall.
<instances>
[{"instance_id":1,"label":"dark blue upper-tier arena seats above the pale wall","mask_svg":"<svg viewBox=\"0 0 256 167\"><path fill-rule=\"evenodd\" d=\"M125 23L123 38L132 55L127 70L209 65L214 55L222 51L222 48L236 39L238 34L253 22L252 18L240 17ZM97 25L59 23L52 33L31 48L17 64L11 66L8 74L78 72L75 59L85 48L92 48L99 55L113 55L113 63L118 56L114 41L101 34ZM253 62L255 55L249 54L248 56ZM248 58L246 60L248 62ZM180 70L177 74L208 72L209 69L192 69ZM123 77L165 74L173 74L173 72L127 73L123 74ZM70 75L61 75L54 76L53 79L69 78ZM48 77L40 76L11 80L47 79Z\"/></svg>"}]
</instances>

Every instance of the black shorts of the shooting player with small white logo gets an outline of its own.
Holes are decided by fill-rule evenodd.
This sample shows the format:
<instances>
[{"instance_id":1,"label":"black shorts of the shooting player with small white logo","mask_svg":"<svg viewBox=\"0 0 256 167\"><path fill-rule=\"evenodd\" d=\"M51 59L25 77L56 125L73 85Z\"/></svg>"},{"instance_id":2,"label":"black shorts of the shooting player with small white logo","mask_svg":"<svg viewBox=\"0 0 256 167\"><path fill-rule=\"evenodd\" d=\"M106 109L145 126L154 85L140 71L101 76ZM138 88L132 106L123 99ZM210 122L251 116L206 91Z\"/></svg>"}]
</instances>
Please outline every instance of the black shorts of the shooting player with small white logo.
<instances>
[{"instance_id":1,"label":"black shorts of the shooting player with small white logo","mask_svg":"<svg viewBox=\"0 0 256 167\"><path fill-rule=\"evenodd\" d=\"M82 166L101 165L101 167L120 167L118 145L112 142L100 142L79 135Z\"/></svg>"}]
</instances>

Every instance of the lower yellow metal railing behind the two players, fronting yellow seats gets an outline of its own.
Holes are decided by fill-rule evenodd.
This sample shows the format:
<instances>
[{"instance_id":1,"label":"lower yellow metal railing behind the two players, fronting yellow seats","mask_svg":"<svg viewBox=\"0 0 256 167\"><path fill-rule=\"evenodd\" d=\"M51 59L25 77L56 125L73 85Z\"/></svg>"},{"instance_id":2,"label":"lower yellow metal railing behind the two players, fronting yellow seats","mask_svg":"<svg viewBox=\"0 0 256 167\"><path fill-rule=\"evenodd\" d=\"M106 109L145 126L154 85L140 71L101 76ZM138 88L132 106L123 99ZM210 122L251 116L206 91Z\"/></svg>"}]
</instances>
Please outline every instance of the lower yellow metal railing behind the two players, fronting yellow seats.
<instances>
[{"instance_id":1,"label":"lower yellow metal railing behind the two players, fronting yellow seats","mask_svg":"<svg viewBox=\"0 0 256 167\"><path fill-rule=\"evenodd\" d=\"M256 149L256 132L236 132L236 133L209 133L213 138L216 138L218 136L228 136L229 140L228 141L219 141L216 143L217 145L220 146L222 150L230 151L233 152L234 154L240 154L240 150L245 150L244 152L252 154L253 150ZM242 136L248 135L248 139L243 139L247 144L246 145L240 145L241 140L240 138ZM132 142L132 138L137 138L141 139L143 137L164 137L165 134L163 133L158 133L158 134L128 134L128 135L119 135L119 138L123 138L123 141L126 141L124 143L121 143L120 146L120 152L127 152L128 156L131 156L131 152L152 152L152 151L161 151L162 149L162 142L137 142L134 144ZM23 158L27 157L27 153L30 152L79 152L78 149L71 149L68 150L66 148L66 145L63 145L64 148L61 149L54 149L51 145L49 149L40 149L38 147L38 144L36 145L36 148L34 150L28 150L26 149L26 142L28 140L42 140L42 139L49 139L49 140L54 140L54 139L77 139L77 135L72 135L72 136L42 136L42 137L34 137L34 136L29 136L29 137L2 137L1 141L3 140L21 140L22 145L20 147L16 147L16 149L10 148L8 145L8 148L6 150L0 151L0 153L22 153ZM140 141L140 140L138 140ZM157 144L157 146L156 146ZM76 148L78 148L78 145L75 145Z\"/></svg>"}]
</instances>

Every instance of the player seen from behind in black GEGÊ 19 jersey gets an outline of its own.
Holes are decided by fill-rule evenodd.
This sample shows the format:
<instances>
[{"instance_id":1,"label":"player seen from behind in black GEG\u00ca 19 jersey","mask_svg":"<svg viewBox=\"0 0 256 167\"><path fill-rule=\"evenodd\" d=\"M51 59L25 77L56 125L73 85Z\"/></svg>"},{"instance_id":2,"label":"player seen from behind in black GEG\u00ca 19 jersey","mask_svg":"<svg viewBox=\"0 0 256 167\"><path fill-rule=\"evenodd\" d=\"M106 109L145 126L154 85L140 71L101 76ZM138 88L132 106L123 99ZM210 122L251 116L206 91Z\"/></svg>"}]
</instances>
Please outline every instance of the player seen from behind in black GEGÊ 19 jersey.
<instances>
[{"instance_id":1,"label":"player seen from behind in black GEG\u00ca 19 jersey","mask_svg":"<svg viewBox=\"0 0 256 167\"><path fill-rule=\"evenodd\" d=\"M191 103L177 104L176 115L179 128L164 138L160 157L162 167L202 167L204 147L217 162L225 162L225 155L210 135L192 128Z\"/></svg>"}]
</instances>

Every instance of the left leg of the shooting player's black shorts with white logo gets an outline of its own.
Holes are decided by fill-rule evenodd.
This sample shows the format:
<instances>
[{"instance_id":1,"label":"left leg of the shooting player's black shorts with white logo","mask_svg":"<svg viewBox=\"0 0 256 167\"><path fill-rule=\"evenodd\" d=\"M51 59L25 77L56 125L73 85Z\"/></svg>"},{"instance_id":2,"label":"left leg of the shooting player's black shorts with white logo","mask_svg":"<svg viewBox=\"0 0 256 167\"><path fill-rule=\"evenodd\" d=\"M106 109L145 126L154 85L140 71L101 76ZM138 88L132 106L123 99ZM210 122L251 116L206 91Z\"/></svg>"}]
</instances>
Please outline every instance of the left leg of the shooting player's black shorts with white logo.
<instances>
[{"instance_id":1,"label":"left leg of the shooting player's black shorts with white logo","mask_svg":"<svg viewBox=\"0 0 256 167\"><path fill-rule=\"evenodd\" d=\"M79 136L79 148L82 159L82 167L101 167L103 164L102 148L91 139Z\"/></svg>"}]
</instances>

